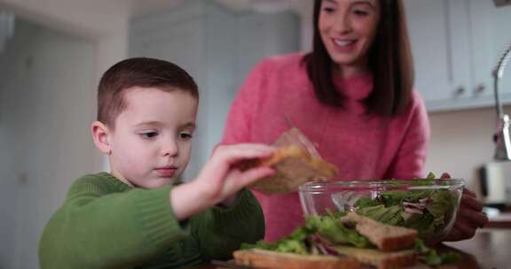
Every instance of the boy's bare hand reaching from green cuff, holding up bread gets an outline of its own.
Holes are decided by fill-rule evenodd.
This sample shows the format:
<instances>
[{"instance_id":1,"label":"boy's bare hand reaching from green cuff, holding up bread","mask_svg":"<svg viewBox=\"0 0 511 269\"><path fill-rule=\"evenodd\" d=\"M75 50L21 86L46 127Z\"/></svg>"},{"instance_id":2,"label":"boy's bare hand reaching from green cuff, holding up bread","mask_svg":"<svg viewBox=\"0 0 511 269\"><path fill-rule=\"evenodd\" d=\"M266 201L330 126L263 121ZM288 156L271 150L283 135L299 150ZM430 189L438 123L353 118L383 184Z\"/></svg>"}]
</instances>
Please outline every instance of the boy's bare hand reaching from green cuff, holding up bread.
<instances>
[{"instance_id":1,"label":"boy's bare hand reaching from green cuff, holding up bread","mask_svg":"<svg viewBox=\"0 0 511 269\"><path fill-rule=\"evenodd\" d=\"M237 168L240 161L267 158L273 150L271 146L255 143L218 146L195 181L172 189L170 203L176 218L187 219L275 173L263 166L243 172Z\"/></svg>"}]
</instances>

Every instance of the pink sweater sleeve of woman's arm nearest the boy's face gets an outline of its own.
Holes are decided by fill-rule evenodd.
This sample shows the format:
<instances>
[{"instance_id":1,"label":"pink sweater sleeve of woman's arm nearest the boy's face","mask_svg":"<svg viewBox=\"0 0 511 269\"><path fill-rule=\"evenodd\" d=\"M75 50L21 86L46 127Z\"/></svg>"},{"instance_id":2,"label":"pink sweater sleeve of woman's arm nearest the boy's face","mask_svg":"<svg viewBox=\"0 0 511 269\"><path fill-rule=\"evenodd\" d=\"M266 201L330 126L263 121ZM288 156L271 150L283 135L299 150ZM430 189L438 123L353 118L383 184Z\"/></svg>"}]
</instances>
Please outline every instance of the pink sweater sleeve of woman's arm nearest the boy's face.
<instances>
[{"instance_id":1,"label":"pink sweater sleeve of woman's arm nearest the boy's face","mask_svg":"<svg viewBox=\"0 0 511 269\"><path fill-rule=\"evenodd\" d=\"M265 80L264 69L264 61L255 65L232 102L224 128L223 144L255 142L251 135L254 128L252 123Z\"/></svg>"}]
</instances>

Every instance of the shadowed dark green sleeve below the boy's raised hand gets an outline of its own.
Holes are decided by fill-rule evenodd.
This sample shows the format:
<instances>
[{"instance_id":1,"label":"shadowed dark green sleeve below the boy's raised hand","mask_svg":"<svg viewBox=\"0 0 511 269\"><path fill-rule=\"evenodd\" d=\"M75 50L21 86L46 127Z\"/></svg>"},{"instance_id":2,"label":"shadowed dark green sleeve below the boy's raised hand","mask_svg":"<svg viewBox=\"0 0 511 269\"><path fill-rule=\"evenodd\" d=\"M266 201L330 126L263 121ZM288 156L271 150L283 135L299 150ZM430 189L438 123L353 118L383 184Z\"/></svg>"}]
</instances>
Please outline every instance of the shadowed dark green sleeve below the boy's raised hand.
<instances>
[{"instance_id":1,"label":"shadowed dark green sleeve below the boy's raised hand","mask_svg":"<svg viewBox=\"0 0 511 269\"><path fill-rule=\"evenodd\" d=\"M263 239L263 211L247 189L231 208L214 207L192 219L192 232L205 260L229 259L243 242Z\"/></svg>"}]
</instances>

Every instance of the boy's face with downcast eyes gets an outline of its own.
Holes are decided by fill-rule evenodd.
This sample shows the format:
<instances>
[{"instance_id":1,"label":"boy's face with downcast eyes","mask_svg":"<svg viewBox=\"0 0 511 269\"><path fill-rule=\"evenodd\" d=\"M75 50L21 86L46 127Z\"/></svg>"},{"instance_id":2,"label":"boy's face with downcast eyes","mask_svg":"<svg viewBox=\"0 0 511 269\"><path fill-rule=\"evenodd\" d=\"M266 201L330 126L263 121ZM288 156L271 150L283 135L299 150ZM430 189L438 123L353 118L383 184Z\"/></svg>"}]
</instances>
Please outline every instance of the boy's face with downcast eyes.
<instances>
[{"instance_id":1,"label":"boy's face with downcast eyes","mask_svg":"<svg viewBox=\"0 0 511 269\"><path fill-rule=\"evenodd\" d=\"M127 107L108 134L112 173L138 188L171 184L190 159L198 100L179 89L139 87L124 98Z\"/></svg>"}]
</instances>

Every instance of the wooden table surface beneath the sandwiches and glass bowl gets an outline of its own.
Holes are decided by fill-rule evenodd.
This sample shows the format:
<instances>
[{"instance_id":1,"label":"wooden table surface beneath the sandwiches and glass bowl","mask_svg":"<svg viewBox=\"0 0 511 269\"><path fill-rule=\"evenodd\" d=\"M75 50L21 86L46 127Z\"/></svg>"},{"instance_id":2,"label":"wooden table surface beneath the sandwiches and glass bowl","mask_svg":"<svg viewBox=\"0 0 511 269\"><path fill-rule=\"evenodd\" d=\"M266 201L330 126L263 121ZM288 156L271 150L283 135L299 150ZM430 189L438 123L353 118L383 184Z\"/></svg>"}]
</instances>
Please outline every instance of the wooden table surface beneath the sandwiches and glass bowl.
<instances>
[{"instance_id":1,"label":"wooden table surface beneath the sandwiches and glass bowl","mask_svg":"<svg viewBox=\"0 0 511 269\"><path fill-rule=\"evenodd\" d=\"M484 228L474 238L461 242L445 242L438 251L456 251L462 256L460 262L440 268L460 269L507 269L511 268L511 229ZM414 266L413 268L424 268ZM201 265L196 269L224 269L217 265ZM412 269L412 268L410 268Z\"/></svg>"}]
</instances>

